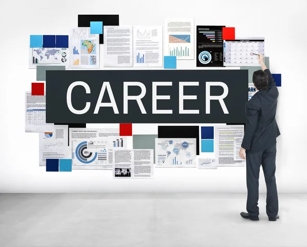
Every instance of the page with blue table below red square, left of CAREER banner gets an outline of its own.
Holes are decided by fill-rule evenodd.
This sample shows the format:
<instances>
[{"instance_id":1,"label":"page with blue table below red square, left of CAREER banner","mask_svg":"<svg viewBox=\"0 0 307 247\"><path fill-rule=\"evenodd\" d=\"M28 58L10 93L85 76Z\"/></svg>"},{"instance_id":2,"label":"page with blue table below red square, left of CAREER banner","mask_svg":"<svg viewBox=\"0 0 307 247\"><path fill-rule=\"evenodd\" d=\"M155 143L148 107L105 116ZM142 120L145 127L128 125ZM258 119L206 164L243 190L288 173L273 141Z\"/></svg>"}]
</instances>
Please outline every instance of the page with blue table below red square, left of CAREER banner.
<instances>
[{"instance_id":1,"label":"page with blue table below red square, left of CAREER banner","mask_svg":"<svg viewBox=\"0 0 307 247\"><path fill-rule=\"evenodd\" d=\"M26 92L26 132L45 132L54 129L46 123L46 96Z\"/></svg>"}]
</instances>

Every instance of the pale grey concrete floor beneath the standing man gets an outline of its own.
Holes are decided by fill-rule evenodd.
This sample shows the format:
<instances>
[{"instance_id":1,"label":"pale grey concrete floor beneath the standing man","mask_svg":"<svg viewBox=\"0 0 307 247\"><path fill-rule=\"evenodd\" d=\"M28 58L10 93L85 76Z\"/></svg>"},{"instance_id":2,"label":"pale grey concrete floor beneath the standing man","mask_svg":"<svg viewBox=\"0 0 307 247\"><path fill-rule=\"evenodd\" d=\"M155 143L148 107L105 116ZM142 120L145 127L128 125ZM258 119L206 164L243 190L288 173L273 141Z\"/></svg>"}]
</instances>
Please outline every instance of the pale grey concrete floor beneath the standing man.
<instances>
[{"instance_id":1,"label":"pale grey concrete floor beneath the standing man","mask_svg":"<svg viewBox=\"0 0 307 247\"><path fill-rule=\"evenodd\" d=\"M307 194L280 220L240 217L245 194L0 194L0 246L307 246Z\"/></svg>"}]
</instances>

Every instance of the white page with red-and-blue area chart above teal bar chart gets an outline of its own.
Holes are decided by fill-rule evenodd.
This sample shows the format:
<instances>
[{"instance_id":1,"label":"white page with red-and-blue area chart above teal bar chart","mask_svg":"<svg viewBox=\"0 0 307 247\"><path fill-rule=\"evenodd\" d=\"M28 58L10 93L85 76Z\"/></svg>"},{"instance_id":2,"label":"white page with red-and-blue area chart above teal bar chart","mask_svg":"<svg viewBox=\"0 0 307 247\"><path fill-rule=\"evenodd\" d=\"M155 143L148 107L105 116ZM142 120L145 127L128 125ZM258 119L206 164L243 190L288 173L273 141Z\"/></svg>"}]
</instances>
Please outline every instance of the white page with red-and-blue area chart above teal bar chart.
<instances>
[{"instance_id":1,"label":"white page with red-and-blue area chart above teal bar chart","mask_svg":"<svg viewBox=\"0 0 307 247\"><path fill-rule=\"evenodd\" d=\"M194 19L167 19L164 28L164 56L194 59Z\"/></svg>"}]
</instances>

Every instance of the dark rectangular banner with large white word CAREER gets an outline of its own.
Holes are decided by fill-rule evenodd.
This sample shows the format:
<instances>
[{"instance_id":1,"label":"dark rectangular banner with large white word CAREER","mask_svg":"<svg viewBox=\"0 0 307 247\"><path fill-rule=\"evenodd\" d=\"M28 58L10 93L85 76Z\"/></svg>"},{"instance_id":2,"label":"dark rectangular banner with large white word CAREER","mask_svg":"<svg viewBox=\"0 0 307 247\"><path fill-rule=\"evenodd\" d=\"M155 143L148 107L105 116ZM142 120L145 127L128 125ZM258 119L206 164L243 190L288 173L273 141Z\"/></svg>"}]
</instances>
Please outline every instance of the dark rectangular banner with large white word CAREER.
<instances>
[{"instance_id":1,"label":"dark rectangular banner with large white word CAREER","mask_svg":"<svg viewBox=\"0 0 307 247\"><path fill-rule=\"evenodd\" d=\"M47 71L47 123L245 122L247 70Z\"/></svg>"}]
</instances>

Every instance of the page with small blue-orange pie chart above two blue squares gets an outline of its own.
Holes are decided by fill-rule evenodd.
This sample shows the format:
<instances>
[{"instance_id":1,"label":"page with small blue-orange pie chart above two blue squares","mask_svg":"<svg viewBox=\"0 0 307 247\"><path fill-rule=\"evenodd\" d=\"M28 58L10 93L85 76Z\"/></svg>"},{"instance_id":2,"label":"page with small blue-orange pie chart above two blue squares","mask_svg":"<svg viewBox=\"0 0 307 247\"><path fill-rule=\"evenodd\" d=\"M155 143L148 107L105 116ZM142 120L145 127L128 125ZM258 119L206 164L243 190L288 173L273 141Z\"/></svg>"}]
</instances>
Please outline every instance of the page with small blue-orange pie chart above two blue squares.
<instances>
[{"instance_id":1,"label":"page with small blue-orange pie chart above two blue squares","mask_svg":"<svg viewBox=\"0 0 307 247\"><path fill-rule=\"evenodd\" d=\"M39 166L46 159L70 159L68 151L68 125L53 125L53 130L39 133Z\"/></svg>"}]
</instances>

